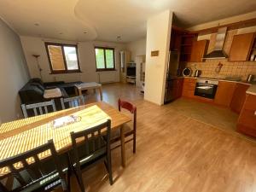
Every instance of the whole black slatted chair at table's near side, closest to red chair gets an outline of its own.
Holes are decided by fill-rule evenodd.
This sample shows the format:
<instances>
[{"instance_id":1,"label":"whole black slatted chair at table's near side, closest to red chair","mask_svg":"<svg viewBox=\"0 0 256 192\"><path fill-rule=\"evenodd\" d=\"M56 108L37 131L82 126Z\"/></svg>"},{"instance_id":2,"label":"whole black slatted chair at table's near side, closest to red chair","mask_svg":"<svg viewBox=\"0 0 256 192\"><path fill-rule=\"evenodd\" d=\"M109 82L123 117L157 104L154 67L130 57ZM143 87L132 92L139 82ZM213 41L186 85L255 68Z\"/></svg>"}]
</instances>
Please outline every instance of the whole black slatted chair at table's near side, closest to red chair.
<instances>
[{"instance_id":1,"label":"whole black slatted chair at table's near side, closest to red chair","mask_svg":"<svg viewBox=\"0 0 256 192\"><path fill-rule=\"evenodd\" d=\"M96 125L84 131L71 132L73 145L73 171L78 179L80 189L84 190L82 170L86 170L94 164L104 162L109 177L109 183L113 184L111 153L110 153L110 128L111 121ZM107 139L103 139L106 137Z\"/></svg>"}]
</instances>

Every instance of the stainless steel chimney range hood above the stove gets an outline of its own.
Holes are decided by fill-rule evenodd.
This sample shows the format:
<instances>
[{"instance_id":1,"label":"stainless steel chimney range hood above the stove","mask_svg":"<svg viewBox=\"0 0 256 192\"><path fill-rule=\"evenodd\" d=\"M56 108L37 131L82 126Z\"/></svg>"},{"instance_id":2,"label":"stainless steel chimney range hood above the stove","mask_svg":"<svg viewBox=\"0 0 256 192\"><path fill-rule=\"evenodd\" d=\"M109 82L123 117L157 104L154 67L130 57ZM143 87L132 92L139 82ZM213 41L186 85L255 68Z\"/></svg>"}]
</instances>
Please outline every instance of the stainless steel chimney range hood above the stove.
<instances>
[{"instance_id":1,"label":"stainless steel chimney range hood above the stove","mask_svg":"<svg viewBox=\"0 0 256 192\"><path fill-rule=\"evenodd\" d=\"M226 38L227 27L222 27L218 29L216 42L214 49L211 53L205 55L204 59L224 59L228 58L228 55L224 52L224 41Z\"/></svg>"}]
</instances>

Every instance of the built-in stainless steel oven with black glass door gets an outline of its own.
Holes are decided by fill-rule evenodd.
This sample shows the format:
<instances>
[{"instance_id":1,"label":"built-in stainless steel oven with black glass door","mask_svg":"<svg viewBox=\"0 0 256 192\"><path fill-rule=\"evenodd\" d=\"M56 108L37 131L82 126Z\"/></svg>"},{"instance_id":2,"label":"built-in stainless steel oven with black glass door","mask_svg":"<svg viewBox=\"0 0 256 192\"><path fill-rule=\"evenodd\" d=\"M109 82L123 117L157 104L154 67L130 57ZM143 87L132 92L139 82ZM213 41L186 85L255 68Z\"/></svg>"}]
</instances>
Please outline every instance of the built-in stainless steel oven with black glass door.
<instances>
[{"instance_id":1,"label":"built-in stainless steel oven with black glass door","mask_svg":"<svg viewBox=\"0 0 256 192\"><path fill-rule=\"evenodd\" d=\"M202 96L214 99L218 88L218 80L214 79L197 79L195 86L195 96Z\"/></svg>"}]
</instances>

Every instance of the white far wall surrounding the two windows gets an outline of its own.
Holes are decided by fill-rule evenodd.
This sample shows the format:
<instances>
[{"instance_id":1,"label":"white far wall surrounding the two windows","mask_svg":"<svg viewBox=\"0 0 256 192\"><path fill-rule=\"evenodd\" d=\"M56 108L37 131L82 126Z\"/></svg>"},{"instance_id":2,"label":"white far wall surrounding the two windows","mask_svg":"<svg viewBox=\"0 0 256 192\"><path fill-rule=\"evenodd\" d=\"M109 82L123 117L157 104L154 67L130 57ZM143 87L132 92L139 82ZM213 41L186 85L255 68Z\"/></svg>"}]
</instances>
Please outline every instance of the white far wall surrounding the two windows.
<instances>
[{"instance_id":1,"label":"white far wall surrounding the two windows","mask_svg":"<svg viewBox=\"0 0 256 192\"><path fill-rule=\"evenodd\" d=\"M36 65L36 60L32 54L38 54L39 65L42 67L43 80L55 81L64 80L66 82L72 81L96 81L99 82L99 78L102 83L108 82L119 82L119 51L124 49L125 44L115 44L107 42L80 42L79 47L79 61L82 73L69 73L69 74L50 74L49 60L47 57L46 49L44 46L44 41L58 42L60 40L55 39L42 39L42 38L32 38L21 36L21 43L26 55L27 66L32 78L38 78L39 72ZM70 43L70 42L62 42ZM73 42L72 42L73 43ZM115 64L116 71L111 72L96 72L96 59L95 59L95 46L106 46L113 47L115 49ZM100 77L99 77L100 76Z\"/></svg>"}]
</instances>

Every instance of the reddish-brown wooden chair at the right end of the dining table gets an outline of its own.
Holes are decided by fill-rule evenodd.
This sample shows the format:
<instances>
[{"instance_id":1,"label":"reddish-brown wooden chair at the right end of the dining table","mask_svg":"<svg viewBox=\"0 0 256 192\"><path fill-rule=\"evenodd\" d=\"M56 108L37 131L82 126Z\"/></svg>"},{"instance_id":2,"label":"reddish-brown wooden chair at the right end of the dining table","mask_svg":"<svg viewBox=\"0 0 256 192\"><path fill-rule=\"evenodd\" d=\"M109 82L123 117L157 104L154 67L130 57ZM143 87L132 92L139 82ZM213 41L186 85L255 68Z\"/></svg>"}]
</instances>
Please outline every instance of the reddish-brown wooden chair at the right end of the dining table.
<instances>
[{"instance_id":1,"label":"reddish-brown wooden chair at the right end of the dining table","mask_svg":"<svg viewBox=\"0 0 256 192\"><path fill-rule=\"evenodd\" d=\"M125 143L133 141L133 153L136 153L136 131L137 131L137 108L136 106L132 105L130 102L125 102L123 100L119 99L119 111L121 109L126 109L133 115L133 122L132 127L129 125L126 125L125 127L125 137L132 136L131 139L125 141ZM111 138L111 143L116 143L120 141L120 134L113 134L113 137ZM120 145L116 146L115 148L118 148ZM114 149L114 148L112 148Z\"/></svg>"}]
</instances>

